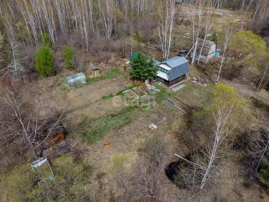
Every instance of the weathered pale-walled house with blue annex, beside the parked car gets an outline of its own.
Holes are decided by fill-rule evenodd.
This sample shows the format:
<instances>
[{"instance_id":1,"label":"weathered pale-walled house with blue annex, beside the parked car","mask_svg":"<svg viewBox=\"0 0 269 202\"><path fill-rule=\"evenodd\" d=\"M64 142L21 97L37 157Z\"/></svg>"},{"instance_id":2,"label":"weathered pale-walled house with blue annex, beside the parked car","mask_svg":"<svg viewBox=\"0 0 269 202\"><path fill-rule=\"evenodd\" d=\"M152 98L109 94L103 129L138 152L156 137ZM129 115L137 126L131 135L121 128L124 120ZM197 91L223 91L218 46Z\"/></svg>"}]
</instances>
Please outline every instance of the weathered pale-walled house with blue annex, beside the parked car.
<instances>
[{"instance_id":1,"label":"weathered pale-walled house with blue annex, beside the parked car","mask_svg":"<svg viewBox=\"0 0 269 202\"><path fill-rule=\"evenodd\" d=\"M218 49L218 46L214 41L199 38L196 48L196 58L195 58L196 60L198 60L199 58L202 47L203 49L201 52L200 61L203 63L207 63L209 60L211 60L214 57L218 57L220 54L220 49ZM193 51L190 52L190 57L193 58Z\"/></svg>"}]
</instances>

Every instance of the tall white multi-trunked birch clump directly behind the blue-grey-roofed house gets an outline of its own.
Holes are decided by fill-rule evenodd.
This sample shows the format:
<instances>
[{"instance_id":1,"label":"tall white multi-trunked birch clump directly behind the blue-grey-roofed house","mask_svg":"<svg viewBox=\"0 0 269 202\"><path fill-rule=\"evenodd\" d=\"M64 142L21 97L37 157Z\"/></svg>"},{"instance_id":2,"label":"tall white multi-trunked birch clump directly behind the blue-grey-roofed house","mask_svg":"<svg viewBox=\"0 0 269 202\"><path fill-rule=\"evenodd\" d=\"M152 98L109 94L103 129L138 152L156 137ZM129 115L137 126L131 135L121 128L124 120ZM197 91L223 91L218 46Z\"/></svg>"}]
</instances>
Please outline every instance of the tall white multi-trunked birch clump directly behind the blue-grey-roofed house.
<instances>
[{"instance_id":1,"label":"tall white multi-trunked birch clump directly behind the blue-grey-roofed house","mask_svg":"<svg viewBox=\"0 0 269 202\"><path fill-rule=\"evenodd\" d=\"M165 5L162 2L159 3L156 18L159 36L157 42L161 47L162 58L167 60L175 42L176 8L172 0L166 0L165 3Z\"/></svg>"}]
</instances>

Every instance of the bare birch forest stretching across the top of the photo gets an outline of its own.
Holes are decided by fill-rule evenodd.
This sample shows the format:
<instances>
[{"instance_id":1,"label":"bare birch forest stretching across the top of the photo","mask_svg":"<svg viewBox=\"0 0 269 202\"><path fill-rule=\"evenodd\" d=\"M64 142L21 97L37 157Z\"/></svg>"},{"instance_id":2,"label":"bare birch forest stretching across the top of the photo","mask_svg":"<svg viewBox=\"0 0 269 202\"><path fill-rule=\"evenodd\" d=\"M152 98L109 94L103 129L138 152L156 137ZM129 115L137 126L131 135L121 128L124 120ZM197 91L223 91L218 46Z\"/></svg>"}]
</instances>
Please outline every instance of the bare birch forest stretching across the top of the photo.
<instances>
[{"instance_id":1,"label":"bare birch forest stretching across the top of the photo","mask_svg":"<svg viewBox=\"0 0 269 202\"><path fill-rule=\"evenodd\" d=\"M145 44L147 53L149 44L156 44L160 59L168 59L170 52L178 48L175 43L176 25L181 23L192 27L194 24L194 20L184 20L186 14L180 11L180 6L184 3L194 6L210 5L216 10L241 10L241 29L247 26L268 42L269 5L266 0L180 2L181 4L172 0L2 1L1 75L9 74L13 79L17 79L33 69L35 49L42 43L51 44L55 51L56 72L61 68L59 66L62 58L59 52L63 44L71 44L76 55L85 54L80 51L83 47L93 54L94 61L105 62L114 51L124 57L144 50L138 41ZM152 36L154 30L156 35ZM193 41L195 38L193 34ZM85 56L81 57L85 60Z\"/></svg>"}]
</instances>

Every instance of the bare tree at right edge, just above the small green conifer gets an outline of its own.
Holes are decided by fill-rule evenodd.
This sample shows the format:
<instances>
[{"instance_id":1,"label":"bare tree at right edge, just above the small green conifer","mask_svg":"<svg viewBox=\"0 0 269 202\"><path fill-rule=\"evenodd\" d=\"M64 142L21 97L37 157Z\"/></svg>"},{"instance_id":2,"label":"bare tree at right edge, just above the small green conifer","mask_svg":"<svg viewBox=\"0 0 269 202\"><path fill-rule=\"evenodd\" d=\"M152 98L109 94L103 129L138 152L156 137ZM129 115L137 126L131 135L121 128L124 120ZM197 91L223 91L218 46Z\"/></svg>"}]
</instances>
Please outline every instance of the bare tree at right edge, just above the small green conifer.
<instances>
[{"instance_id":1,"label":"bare tree at right edge, just above the small green conifer","mask_svg":"<svg viewBox=\"0 0 269 202\"><path fill-rule=\"evenodd\" d=\"M256 177L259 166L263 162L264 155L269 151L269 122L266 121L263 133L256 136L256 134L249 134L247 139L248 149L247 154L253 160L252 176Z\"/></svg>"}]
</instances>

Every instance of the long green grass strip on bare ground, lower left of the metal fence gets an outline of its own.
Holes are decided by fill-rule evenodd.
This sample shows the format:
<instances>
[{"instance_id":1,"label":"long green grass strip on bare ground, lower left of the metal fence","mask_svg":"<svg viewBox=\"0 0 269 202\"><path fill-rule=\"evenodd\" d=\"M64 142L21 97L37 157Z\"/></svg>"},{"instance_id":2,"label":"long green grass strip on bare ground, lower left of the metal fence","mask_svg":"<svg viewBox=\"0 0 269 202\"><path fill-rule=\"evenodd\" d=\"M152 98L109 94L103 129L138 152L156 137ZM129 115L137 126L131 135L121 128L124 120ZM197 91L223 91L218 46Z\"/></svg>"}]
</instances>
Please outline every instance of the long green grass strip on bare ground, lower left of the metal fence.
<instances>
[{"instance_id":1,"label":"long green grass strip on bare ground, lower left of the metal fence","mask_svg":"<svg viewBox=\"0 0 269 202\"><path fill-rule=\"evenodd\" d=\"M85 120L77 127L77 133L80 134L83 141L93 144L107 134L109 129L125 126L137 116L139 116L139 111L135 107L129 106L117 114L107 115L100 119Z\"/></svg>"}]
</instances>

